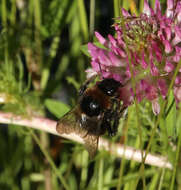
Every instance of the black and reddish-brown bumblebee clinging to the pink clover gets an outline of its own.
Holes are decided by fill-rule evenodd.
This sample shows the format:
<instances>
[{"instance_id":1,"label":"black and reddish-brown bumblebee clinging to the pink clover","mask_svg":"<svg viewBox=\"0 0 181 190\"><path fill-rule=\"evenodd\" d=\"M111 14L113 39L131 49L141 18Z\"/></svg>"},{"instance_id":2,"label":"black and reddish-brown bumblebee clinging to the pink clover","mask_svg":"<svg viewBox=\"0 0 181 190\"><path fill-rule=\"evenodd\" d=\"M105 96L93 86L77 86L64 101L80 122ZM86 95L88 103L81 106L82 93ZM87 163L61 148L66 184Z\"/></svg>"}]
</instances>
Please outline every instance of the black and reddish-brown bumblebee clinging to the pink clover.
<instances>
[{"instance_id":1,"label":"black and reddish-brown bumblebee clinging to the pink clover","mask_svg":"<svg viewBox=\"0 0 181 190\"><path fill-rule=\"evenodd\" d=\"M106 78L88 87L94 79L89 79L79 90L77 105L57 123L59 134L75 133L85 142L91 158L98 147L99 136L106 131L110 136L117 132L119 119L124 111L120 106L119 89L121 83Z\"/></svg>"}]
</instances>

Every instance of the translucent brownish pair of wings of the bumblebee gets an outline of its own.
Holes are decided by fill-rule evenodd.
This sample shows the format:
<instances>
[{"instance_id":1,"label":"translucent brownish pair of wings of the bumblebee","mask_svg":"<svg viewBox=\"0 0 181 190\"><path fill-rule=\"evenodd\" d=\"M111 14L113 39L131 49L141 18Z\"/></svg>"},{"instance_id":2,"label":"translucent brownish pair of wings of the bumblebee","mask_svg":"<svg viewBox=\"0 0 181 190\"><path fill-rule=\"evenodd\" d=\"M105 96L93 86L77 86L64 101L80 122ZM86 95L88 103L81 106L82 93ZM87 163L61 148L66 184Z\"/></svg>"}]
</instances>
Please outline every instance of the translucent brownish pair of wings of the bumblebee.
<instances>
[{"instance_id":1,"label":"translucent brownish pair of wings of the bumblebee","mask_svg":"<svg viewBox=\"0 0 181 190\"><path fill-rule=\"evenodd\" d=\"M85 147L88 150L90 157L93 158L97 151L99 136L92 134L89 131L88 126L92 125L91 120L87 121L85 126L81 126L80 114L79 107L75 107L60 118L56 130L59 134L74 133L80 136L84 140Z\"/></svg>"}]
</instances>

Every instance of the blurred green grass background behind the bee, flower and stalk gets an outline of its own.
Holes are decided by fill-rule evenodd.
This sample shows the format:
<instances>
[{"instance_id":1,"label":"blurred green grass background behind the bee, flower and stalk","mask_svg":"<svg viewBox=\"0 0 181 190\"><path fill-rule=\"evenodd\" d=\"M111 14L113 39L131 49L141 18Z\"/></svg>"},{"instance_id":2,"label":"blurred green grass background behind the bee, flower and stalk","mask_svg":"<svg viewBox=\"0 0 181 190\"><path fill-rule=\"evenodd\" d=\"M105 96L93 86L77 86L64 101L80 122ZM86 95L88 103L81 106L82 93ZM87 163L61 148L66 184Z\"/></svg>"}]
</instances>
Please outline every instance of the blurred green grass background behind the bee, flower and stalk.
<instances>
[{"instance_id":1,"label":"blurred green grass background behind the bee, flower and stalk","mask_svg":"<svg viewBox=\"0 0 181 190\"><path fill-rule=\"evenodd\" d=\"M120 7L139 15L143 0L1 0L1 111L58 120L73 107L90 66L85 45L93 41L94 30L105 37L114 34L111 25ZM169 157L173 171L148 165L140 169L140 163L104 151L90 161L82 145L1 124L0 190L181 189L181 117L172 102L170 94L169 112L159 120L148 102L138 105L139 113L130 106L110 140L119 142L121 136L124 144L139 149L149 144L149 152Z\"/></svg>"}]
</instances>

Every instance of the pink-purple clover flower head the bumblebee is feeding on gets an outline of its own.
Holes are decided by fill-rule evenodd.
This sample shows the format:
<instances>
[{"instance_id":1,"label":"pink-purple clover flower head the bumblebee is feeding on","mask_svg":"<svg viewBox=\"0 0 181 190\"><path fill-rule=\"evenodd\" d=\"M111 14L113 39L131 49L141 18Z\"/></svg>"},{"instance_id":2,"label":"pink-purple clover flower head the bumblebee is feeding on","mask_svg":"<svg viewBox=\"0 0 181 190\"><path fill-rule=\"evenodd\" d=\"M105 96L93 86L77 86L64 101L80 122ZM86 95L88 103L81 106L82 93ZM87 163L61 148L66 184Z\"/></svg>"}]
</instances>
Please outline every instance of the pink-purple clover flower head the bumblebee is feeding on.
<instances>
[{"instance_id":1,"label":"pink-purple clover flower head the bumblebee is feeding on","mask_svg":"<svg viewBox=\"0 0 181 190\"><path fill-rule=\"evenodd\" d=\"M88 43L92 70L103 78L114 78L124 85L120 99L130 105L134 95L140 102L152 102L160 111L158 97L167 96L170 81L181 58L181 1L167 0L162 14L159 0L152 9L145 0L140 16L122 9L115 19L115 36L95 36L102 47ZM88 70L90 75L92 70ZM131 78L134 77L134 86ZM181 69L173 86L176 102L181 101Z\"/></svg>"}]
</instances>

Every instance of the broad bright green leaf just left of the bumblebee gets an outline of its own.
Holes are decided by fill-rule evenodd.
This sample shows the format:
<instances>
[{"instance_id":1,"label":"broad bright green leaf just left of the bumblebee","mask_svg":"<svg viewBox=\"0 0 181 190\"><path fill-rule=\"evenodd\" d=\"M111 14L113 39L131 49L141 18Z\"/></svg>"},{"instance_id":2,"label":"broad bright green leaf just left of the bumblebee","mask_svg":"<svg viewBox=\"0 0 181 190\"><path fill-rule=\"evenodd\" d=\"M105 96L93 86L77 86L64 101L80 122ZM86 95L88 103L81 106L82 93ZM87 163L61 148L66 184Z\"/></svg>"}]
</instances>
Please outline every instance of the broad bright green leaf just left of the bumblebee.
<instances>
[{"instance_id":1,"label":"broad bright green leaf just left of the bumblebee","mask_svg":"<svg viewBox=\"0 0 181 190\"><path fill-rule=\"evenodd\" d=\"M57 118L62 117L65 113L67 113L70 110L70 107L67 104L52 99L46 99L45 106L48 109L48 111L55 115Z\"/></svg>"}]
</instances>

